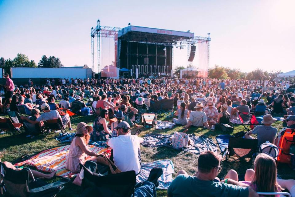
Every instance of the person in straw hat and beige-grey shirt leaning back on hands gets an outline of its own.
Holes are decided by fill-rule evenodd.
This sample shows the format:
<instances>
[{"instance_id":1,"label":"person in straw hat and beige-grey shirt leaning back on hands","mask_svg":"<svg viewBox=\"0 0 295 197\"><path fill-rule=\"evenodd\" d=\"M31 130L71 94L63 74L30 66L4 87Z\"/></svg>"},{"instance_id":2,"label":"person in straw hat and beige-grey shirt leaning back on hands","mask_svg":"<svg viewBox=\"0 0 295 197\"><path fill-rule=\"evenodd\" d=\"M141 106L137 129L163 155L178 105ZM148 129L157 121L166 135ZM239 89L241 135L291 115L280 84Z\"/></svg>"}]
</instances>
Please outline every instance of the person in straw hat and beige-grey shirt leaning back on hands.
<instances>
[{"instance_id":1,"label":"person in straw hat and beige-grey shirt leaning back on hands","mask_svg":"<svg viewBox=\"0 0 295 197\"><path fill-rule=\"evenodd\" d=\"M190 119L188 120L188 123L184 127L184 129L187 129L191 125L193 125L195 127L201 127L202 125L204 125L207 129L210 129L208 122L207 122L206 113L202 111L203 107L204 106L202 103L197 103L197 105L195 107L196 111L191 112Z\"/></svg>"}]
</instances>

